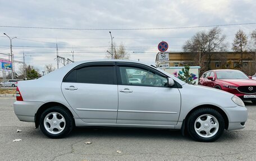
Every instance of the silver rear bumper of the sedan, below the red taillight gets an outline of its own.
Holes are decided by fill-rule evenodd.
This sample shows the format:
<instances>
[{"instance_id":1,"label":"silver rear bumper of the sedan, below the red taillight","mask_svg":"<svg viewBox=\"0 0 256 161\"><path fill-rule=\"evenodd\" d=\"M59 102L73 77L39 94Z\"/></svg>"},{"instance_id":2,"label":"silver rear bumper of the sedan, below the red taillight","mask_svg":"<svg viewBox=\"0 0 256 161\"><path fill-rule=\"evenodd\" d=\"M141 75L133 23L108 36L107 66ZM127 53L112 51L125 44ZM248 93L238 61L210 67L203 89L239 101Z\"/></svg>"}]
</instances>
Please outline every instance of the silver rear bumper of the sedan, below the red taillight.
<instances>
[{"instance_id":1,"label":"silver rear bumper of the sedan, below the red taillight","mask_svg":"<svg viewBox=\"0 0 256 161\"><path fill-rule=\"evenodd\" d=\"M43 104L43 102L16 101L13 108L20 121L34 122L35 113Z\"/></svg>"}]
</instances>

